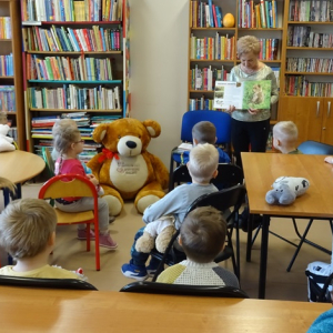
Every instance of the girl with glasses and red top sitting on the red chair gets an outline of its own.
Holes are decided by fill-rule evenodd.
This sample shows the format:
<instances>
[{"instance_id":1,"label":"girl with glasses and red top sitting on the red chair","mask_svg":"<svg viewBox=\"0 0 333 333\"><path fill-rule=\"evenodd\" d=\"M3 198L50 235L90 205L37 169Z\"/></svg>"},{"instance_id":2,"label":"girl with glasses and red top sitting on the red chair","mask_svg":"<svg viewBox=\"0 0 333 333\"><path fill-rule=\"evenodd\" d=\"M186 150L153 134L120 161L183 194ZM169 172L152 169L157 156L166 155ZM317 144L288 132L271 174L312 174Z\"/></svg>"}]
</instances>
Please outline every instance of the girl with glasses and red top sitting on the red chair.
<instances>
[{"instance_id":1,"label":"girl with glasses and red top sitting on the red chair","mask_svg":"<svg viewBox=\"0 0 333 333\"><path fill-rule=\"evenodd\" d=\"M75 173L87 176L95 186L100 189L99 181L92 174L85 174L78 154L83 151L84 141L81 139L77 123L71 119L61 119L53 125L53 144L60 158L56 161L56 174ZM99 205L99 241L100 246L114 250L118 245L109 233L109 206L104 199L98 199ZM62 198L56 200L56 206L61 211L74 213L93 210L93 198ZM87 228L78 224L78 239L87 239ZM94 232L90 230L91 239Z\"/></svg>"}]
</instances>

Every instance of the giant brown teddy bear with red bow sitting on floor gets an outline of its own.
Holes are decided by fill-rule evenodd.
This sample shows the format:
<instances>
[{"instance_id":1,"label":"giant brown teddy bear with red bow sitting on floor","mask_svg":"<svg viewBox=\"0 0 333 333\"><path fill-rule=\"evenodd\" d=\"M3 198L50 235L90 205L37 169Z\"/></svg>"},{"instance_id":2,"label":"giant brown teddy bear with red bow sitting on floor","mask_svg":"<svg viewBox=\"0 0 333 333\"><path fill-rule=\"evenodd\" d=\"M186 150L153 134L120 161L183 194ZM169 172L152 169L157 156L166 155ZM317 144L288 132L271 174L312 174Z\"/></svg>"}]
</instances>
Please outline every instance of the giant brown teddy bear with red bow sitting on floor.
<instances>
[{"instance_id":1,"label":"giant brown teddy bear with red bow sitting on floor","mask_svg":"<svg viewBox=\"0 0 333 333\"><path fill-rule=\"evenodd\" d=\"M123 200L134 199L139 213L164 196L169 172L162 161L149 153L151 138L161 133L154 120L139 121L132 118L102 123L93 131L93 140L103 144L102 152L88 163L104 190L109 214L118 215Z\"/></svg>"}]
</instances>

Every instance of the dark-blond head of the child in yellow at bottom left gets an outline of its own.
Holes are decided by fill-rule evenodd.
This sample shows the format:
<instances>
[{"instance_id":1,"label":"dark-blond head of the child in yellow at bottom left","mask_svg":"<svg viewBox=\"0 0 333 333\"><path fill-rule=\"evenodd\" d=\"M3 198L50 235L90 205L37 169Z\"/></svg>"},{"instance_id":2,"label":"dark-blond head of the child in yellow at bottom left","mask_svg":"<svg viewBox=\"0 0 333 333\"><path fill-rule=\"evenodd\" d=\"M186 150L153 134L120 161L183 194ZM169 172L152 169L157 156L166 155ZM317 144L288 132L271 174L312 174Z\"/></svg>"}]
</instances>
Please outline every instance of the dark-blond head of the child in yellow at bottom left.
<instances>
[{"instance_id":1,"label":"dark-blond head of the child in yellow at bottom left","mask_svg":"<svg viewBox=\"0 0 333 333\"><path fill-rule=\"evenodd\" d=\"M0 214L0 245L18 260L33 258L47 249L56 225L57 215L48 202L12 201Z\"/></svg>"}]
</instances>

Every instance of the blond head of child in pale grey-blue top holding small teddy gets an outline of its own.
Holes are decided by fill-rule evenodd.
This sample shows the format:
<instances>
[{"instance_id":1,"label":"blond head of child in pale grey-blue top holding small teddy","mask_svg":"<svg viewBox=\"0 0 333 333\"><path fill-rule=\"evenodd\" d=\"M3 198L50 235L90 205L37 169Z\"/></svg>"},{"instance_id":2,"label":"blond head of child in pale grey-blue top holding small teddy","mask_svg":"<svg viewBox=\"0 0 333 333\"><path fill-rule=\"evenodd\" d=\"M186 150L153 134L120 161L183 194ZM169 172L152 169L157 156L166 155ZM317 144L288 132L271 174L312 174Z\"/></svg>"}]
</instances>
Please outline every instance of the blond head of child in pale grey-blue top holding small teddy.
<instances>
[{"instance_id":1,"label":"blond head of child in pale grey-blue top holding small teddy","mask_svg":"<svg viewBox=\"0 0 333 333\"><path fill-rule=\"evenodd\" d=\"M209 183L218 174L219 152L210 143L198 144L190 151L188 169L192 181Z\"/></svg>"}]
</instances>

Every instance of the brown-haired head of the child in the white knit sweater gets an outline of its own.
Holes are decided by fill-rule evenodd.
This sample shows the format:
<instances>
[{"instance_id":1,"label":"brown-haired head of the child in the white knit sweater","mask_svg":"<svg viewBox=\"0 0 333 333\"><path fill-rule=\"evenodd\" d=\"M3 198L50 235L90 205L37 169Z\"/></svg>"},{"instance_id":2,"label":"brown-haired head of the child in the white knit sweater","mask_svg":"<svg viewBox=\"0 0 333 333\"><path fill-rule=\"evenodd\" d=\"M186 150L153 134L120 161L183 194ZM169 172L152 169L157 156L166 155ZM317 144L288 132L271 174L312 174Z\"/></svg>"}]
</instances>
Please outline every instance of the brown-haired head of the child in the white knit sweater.
<instances>
[{"instance_id":1,"label":"brown-haired head of the child in the white knit sweater","mask_svg":"<svg viewBox=\"0 0 333 333\"><path fill-rule=\"evenodd\" d=\"M212 206L190 212L180 229L180 244L186 256L198 263L212 262L223 250L225 236L226 222Z\"/></svg>"}]
</instances>

